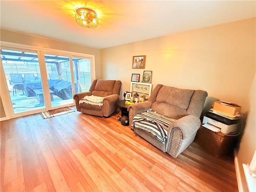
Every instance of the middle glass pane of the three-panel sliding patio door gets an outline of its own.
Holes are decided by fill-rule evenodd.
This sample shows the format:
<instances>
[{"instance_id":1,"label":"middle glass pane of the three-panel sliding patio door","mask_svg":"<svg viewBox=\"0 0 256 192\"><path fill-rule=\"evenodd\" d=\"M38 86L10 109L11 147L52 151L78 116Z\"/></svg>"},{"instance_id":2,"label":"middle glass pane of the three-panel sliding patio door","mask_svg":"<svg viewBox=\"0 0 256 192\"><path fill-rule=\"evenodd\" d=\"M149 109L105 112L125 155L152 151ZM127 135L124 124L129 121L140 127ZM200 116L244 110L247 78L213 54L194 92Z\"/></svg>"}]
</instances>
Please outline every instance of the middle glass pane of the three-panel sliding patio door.
<instances>
[{"instance_id":1,"label":"middle glass pane of the three-panel sliding patio door","mask_svg":"<svg viewBox=\"0 0 256 192\"><path fill-rule=\"evenodd\" d=\"M52 108L74 103L69 57L44 54L44 59Z\"/></svg>"}]
</instances>

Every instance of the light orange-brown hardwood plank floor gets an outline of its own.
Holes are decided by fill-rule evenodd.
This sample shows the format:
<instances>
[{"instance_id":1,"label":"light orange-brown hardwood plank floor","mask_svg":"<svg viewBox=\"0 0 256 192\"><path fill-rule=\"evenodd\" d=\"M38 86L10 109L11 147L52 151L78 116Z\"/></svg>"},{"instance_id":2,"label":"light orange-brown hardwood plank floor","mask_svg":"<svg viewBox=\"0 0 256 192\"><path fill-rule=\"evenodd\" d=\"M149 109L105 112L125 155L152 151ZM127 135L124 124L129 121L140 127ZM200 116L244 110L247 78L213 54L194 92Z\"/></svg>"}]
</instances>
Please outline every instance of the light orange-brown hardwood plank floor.
<instances>
[{"instance_id":1,"label":"light orange-brown hardwood plank floor","mask_svg":"<svg viewBox=\"0 0 256 192\"><path fill-rule=\"evenodd\" d=\"M172 158L117 115L2 121L1 191L238 191L232 157L215 158L193 142Z\"/></svg>"}]
</instances>

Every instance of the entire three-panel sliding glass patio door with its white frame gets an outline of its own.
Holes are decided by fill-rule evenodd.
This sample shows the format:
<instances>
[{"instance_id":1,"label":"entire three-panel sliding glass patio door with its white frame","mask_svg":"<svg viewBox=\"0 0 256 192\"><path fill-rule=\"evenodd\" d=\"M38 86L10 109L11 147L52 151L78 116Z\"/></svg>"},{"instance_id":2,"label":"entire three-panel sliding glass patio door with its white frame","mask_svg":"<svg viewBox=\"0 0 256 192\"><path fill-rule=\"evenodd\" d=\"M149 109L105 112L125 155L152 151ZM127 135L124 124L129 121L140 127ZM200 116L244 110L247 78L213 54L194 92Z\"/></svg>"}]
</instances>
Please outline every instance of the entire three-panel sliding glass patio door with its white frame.
<instances>
[{"instance_id":1,"label":"entire three-panel sliding glass patio door with its white frame","mask_svg":"<svg viewBox=\"0 0 256 192\"><path fill-rule=\"evenodd\" d=\"M34 47L6 46L0 50L3 69L0 73L6 80L1 82L6 87L1 89L4 90L1 98L5 98L4 110L11 117L73 106L73 95L88 91L95 78L92 56Z\"/></svg>"}]
</instances>

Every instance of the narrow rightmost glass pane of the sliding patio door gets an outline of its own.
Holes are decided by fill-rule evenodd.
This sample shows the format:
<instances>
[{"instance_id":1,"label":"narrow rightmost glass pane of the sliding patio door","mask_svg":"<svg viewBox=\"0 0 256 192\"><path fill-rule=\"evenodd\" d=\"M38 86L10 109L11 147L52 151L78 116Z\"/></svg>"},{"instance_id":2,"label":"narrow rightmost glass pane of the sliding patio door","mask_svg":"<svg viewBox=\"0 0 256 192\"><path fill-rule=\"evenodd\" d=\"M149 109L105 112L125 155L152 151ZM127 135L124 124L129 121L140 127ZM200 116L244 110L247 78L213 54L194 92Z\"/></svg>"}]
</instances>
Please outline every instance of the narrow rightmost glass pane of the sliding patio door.
<instances>
[{"instance_id":1,"label":"narrow rightmost glass pane of the sliding patio door","mask_svg":"<svg viewBox=\"0 0 256 192\"><path fill-rule=\"evenodd\" d=\"M91 61L85 58L72 58L75 92L86 92L91 86Z\"/></svg>"}]
</instances>

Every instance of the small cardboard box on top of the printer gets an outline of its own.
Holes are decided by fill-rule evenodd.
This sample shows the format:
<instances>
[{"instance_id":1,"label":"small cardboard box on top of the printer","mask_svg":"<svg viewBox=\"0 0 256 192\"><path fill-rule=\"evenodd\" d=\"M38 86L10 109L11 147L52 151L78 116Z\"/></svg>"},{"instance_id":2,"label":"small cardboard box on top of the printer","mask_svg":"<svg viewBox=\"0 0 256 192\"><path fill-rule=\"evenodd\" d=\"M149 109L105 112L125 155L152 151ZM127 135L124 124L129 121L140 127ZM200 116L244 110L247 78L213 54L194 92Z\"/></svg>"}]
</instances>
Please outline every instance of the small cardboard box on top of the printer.
<instances>
[{"instance_id":1,"label":"small cardboard box on top of the printer","mask_svg":"<svg viewBox=\"0 0 256 192\"><path fill-rule=\"evenodd\" d=\"M240 113L241 106L234 103L216 101L213 104L213 110L220 111L229 115L237 115Z\"/></svg>"}]
</instances>

